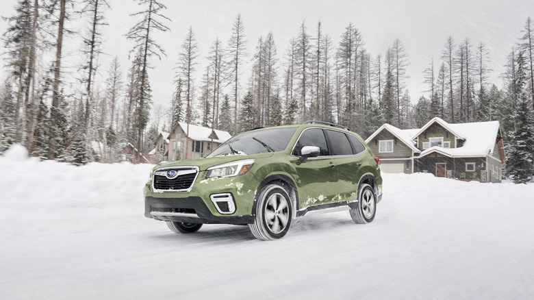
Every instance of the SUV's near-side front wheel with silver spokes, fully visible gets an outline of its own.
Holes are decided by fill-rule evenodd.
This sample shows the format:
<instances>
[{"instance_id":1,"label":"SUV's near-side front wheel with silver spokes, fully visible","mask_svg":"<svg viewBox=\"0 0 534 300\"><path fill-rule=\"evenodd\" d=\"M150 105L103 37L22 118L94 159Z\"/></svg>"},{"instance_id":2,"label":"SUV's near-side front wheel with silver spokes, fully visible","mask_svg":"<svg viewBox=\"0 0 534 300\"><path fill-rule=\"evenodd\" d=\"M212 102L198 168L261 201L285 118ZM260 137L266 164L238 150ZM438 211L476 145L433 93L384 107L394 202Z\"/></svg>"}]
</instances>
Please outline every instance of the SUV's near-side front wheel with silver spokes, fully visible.
<instances>
[{"instance_id":1,"label":"SUV's near-side front wheel with silver spokes, fully visible","mask_svg":"<svg viewBox=\"0 0 534 300\"><path fill-rule=\"evenodd\" d=\"M288 191L279 184L262 189L256 204L252 234L259 240L277 240L288 233L293 221L293 205Z\"/></svg>"}]
</instances>

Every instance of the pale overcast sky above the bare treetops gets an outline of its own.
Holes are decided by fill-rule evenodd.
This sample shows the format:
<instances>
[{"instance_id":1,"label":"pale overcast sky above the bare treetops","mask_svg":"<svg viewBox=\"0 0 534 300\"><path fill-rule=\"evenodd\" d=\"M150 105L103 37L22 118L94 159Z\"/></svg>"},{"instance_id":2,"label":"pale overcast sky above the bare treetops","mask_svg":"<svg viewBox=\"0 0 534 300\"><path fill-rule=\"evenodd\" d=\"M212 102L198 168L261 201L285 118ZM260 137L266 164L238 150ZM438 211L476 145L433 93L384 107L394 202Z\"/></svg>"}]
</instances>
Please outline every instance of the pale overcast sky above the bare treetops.
<instances>
[{"instance_id":1,"label":"pale overcast sky above the bare treetops","mask_svg":"<svg viewBox=\"0 0 534 300\"><path fill-rule=\"evenodd\" d=\"M322 22L323 33L329 34L337 47L342 32L348 23L353 23L364 38L368 51L384 55L387 47L398 38L405 45L409 55L407 67L407 88L412 102L416 102L427 88L422 84L422 71L434 58L435 68L439 67L441 51L446 38L453 36L457 43L470 38L472 45L484 42L492 61L490 67L494 73L490 80L500 87L500 73L503 72L505 58L511 47L518 42L527 16L534 17L533 0L194 0L164 1L168 10L164 12L173 22L167 23L171 32L157 34L168 56L161 61L154 59L153 69L149 73L155 103L167 103L173 93L173 78L177 54L186 32L192 26L204 58L216 37L227 40L231 36L232 23L237 14L242 15L245 34L249 40L249 53L253 53L257 40L272 31L278 48L280 62L288 48L289 41L298 34L303 21L312 36L316 33L318 21ZM140 7L133 0L109 0L112 10L107 12L104 51L108 55L101 57L99 73L104 76L109 62L115 55L121 60L124 73L129 67L127 53L133 46L126 40L125 34L137 21L129 16ZM1 16L13 14L15 0L0 0ZM79 22L79 21L78 21ZM77 27L71 23L71 27ZM5 32L6 23L0 21L0 32ZM80 61L79 45L68 44L65 56L66 66L75 68ZM0 48L3 53L3 43ZM475 51L475 47L473 47ZM250 56L251 57L251 56ZM199 61L201 62L201 61ZM3 64L3 62L1 62ZM197 67L196 78L201 78L205 64ZM249 69L249 67L246 67ZM0 79L5 78L0 73ZM243 76L243 83L248 75Z\"/></svg>"}]
</instances>

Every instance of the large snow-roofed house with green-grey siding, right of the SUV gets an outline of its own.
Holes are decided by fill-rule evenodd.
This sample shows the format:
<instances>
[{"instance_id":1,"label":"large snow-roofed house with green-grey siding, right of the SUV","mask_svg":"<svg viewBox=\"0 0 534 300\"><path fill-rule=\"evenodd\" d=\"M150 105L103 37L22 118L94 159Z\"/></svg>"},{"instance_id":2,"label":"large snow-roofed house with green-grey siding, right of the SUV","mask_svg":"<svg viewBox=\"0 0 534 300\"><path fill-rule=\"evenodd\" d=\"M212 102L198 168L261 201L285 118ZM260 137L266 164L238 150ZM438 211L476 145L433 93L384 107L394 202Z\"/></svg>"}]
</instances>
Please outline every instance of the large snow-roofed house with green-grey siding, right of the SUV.
<instances>
[{"instance_id":1,"label":"large snow-roofed house with green-grey siding, right of the SUV","mask_svg":"<svg viewBox=\"0 0 534 300\"><path fill-rule=\"evenodd\" d=\"M500 182L505 164L498 121L450 124L433 118L420 129L384 124L366 142L385 173Z\"/></svg>"}]
</instances>

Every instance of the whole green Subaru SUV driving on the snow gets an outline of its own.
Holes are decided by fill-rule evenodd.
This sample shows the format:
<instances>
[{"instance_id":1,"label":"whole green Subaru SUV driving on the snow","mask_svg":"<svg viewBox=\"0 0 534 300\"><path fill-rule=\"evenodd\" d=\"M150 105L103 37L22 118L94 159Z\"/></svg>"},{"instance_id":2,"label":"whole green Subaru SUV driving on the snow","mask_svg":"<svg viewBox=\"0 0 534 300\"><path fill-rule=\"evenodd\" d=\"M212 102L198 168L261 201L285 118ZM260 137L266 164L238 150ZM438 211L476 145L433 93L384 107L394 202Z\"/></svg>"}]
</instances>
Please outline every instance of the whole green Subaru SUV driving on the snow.
<instances>
[{"instance_id":1,"label":"whole green Subaru SUV driving on the snow","mask_svg":"<svg viewBox=\"0 0 534 300\"><path fill-rule=\"evenodd\" d=\"M275 240L311 212L349 210L355 223L370 223L381 197L379 159L364 140L313 121L244 132L206 158L158 164L144 186L144 216L177 233L235 224Z\"/></svg>"}]
</instances>

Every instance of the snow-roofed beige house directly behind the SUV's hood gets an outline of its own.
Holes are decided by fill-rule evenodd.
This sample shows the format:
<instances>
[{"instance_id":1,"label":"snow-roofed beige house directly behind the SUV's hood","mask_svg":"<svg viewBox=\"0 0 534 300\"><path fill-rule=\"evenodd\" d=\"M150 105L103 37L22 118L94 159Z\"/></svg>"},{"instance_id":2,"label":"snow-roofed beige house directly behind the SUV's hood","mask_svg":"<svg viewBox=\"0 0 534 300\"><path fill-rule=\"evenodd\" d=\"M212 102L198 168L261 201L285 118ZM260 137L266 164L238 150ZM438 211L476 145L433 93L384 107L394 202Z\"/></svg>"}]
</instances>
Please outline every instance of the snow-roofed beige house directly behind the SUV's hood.
<instances>
[{"instance_id":1,"label":"snow-roofed beige house directly behind the SUV's hood","mask_svg":"<svg viewBox=\"0 0 534 300\"><path fill-rule=\"evenodd\" d=\"M228 132L178 122L168 136L168 160L201 158L226 140Z\"/></svg>"}]
</instances>

